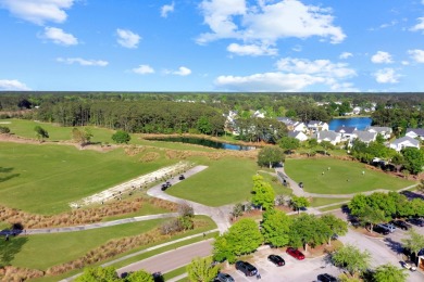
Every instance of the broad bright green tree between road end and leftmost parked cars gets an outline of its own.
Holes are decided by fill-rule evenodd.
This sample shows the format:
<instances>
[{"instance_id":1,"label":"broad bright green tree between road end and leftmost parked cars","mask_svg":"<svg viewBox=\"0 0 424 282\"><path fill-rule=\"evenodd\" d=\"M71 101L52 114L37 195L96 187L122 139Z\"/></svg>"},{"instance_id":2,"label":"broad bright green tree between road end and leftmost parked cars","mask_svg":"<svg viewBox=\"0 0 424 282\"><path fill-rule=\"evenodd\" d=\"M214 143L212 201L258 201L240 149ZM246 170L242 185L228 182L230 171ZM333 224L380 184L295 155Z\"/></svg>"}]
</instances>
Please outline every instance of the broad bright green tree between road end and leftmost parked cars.
<instances>
[{"instance_id":1,"label":"broad bright green tree between road end and leftmost parked cars","mask_svg":"<svg viewBox=\"0 0 424 282\"><path fill-rule=\"evenodd\" d=\"M219 261L234 262L237 256L250 254L263 242L259 227L253 219L244 218L234 223L213 244L213 255Z\"/></svg>"}]
</instances>

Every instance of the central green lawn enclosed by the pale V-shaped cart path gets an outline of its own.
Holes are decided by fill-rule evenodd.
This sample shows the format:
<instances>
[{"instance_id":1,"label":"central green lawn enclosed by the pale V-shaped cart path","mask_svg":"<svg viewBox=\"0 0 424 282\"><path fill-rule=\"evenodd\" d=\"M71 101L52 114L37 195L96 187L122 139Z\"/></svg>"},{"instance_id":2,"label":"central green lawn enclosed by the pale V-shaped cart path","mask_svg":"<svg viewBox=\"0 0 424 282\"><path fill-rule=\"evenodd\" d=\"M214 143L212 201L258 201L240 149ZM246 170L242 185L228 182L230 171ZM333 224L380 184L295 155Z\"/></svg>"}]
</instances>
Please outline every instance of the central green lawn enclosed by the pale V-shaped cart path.
<instances>
[{"instance_id":1,"label":"central green lawn enclosed by the pale V-shaped cart path","mask_svg":"<svg viewBox=\"0 0 424 282\"><path fill-rule=\"evenodd\" d=\"M252 177L259 167L252 159L226 157L166 190L166 193L209 206L240 203L251 197ZM283 189L276 191L282 193Z\"/></svg>"}]
</instances>

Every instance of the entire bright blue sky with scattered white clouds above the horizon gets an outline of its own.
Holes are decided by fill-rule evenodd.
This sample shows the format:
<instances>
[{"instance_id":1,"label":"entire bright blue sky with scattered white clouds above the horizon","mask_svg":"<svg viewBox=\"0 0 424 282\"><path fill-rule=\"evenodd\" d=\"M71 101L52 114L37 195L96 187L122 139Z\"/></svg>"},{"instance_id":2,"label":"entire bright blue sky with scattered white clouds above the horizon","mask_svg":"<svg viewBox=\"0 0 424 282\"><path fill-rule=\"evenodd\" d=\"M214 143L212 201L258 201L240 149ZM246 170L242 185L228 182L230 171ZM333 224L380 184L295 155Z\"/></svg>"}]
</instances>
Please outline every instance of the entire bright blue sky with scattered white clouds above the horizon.
<instances>
[{"instance_id":1,"label":"entire bright blue sky with scattered white clouds above the horizon","mask_svg":"<svg viewBox=\"0 0 424 282\"><path fill-rule=\"evenodd\" d=\"M0 0L0 90L424 91L424 0Z\"/></svg>"}]
</instances>

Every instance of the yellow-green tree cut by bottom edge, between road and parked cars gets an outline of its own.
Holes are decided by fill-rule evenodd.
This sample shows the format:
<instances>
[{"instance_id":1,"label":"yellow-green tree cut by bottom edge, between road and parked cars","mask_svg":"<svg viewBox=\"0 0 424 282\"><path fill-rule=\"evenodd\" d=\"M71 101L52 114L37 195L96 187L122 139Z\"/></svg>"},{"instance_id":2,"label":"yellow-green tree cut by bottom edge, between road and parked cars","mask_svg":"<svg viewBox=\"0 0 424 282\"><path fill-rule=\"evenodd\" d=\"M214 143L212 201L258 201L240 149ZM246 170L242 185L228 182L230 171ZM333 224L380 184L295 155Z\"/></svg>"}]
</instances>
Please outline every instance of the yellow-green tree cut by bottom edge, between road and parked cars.
<instances>
[{"instance_id":1,"label":"yellow-green tree cut by bottom edge, between road and parked cars","mask_svg":"<svg viewBox=\"0 0 424 282\"><path fill-rule=\"evenodd\" d=\"M187 266L188 279L191 282L210 282L220 272L220 267L214 266L212 257L195 258Z\"/></svg>"}]
</instances>

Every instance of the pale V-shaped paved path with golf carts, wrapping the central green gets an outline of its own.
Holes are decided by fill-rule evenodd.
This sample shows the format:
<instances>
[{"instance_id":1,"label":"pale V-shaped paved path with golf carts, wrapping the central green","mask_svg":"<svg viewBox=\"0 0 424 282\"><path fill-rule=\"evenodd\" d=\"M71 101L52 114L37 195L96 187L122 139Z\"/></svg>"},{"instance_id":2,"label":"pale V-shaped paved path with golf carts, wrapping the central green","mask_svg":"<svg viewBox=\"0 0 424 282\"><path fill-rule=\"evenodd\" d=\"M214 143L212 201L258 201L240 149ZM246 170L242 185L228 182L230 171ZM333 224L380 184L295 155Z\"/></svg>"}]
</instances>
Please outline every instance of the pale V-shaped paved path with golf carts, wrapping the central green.
<instances>
[{"instance_id":1,"label":"pale V-shaped paved path with golf carts, wrapping the central green","mask_svg":"<svg viewBox=\"0 0 424 282\"><path fill-rule=\"evenodd\" d=\"M187 170L184 175L186 177L190 177L191 175L198 174L207 168L208 168L207 166L196 166L196 167ZM184 180L178 180L178 177L176 176L176 177L170 179L169 181L171 182L171 184L175 184L175 183L177 183L179 181L184 181ZM230 227L229 211L232 210L232 205L221 206L221 207L210 207L210 206L205 206L205 205L202 205L202 204L199 204L196 202L183 200L183 198L179 198L176 196L172 196L172 195L165 193L164 191L162 191L161 184L158 184L155 187L150 188L147 191L147 194L150 196L159 197L159 198L166 200L166 201L174 202L174 203L189 204L190 206L192 206L196 215L205 215L205 216L211 217L212 220L215 221L221 233L224 233Z\"/></svg>"}]
</instances>

